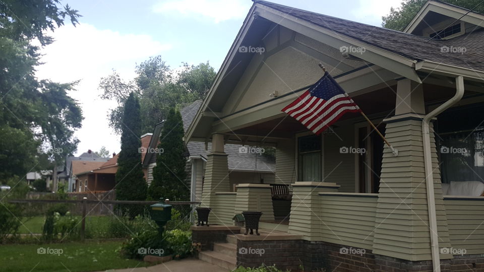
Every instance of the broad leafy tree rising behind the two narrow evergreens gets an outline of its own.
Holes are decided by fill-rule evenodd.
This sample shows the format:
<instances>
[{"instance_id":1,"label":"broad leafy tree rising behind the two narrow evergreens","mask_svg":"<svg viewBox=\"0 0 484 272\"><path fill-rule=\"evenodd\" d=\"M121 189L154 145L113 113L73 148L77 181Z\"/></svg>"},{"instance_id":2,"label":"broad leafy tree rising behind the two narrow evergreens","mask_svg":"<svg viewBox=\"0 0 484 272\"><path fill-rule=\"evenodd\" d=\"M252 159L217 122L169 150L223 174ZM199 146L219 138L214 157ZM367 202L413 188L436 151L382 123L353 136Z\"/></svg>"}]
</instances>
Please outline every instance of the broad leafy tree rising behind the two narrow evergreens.
<instances>
[{"instance_id":1,"label":"broad leafy tree rising behind the two narrow evergreens","mask_svg":"<svg viewBox=\"0 0 484 272\"><path fill-rule=\"evenodd\" d=\"M167 118L171 107L180 109L203 99L216 75L208 62L197 66L184 63L180 70L172 70L161 56L150 57L136 66L135 72L134 80L125 81L113 71L99 84L103 91L101 98L118 103L108 114L109 125L116 133L121 131L122 105L129 93L135 93L140 99L141 131L151 132L157 123Z\"/></svg>"}]
</instances>

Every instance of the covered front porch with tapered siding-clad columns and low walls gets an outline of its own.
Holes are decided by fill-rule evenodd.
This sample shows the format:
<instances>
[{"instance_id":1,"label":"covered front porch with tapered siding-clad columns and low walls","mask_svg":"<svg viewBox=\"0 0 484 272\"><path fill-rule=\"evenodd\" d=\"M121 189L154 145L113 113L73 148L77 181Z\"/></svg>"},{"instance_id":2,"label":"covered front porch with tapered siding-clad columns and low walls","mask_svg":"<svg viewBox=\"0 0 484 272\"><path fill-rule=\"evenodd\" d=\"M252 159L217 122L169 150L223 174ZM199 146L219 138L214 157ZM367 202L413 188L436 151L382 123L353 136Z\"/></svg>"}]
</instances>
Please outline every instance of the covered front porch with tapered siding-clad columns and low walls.
<instances>
[{"instance_id":1,"label":"covered front porch with tapered siding-clad columns and low walls","mask_svg":"<svg viewBox=\"0 0 484 272\"><path fill-rule=\"evenodd\" d=\"M299 235L305 247L326 252L329 262L338 259L345 263L341 261L347 258L344 265L349 267L355 254L340 250L354 249L368 254L364 263L370 267L379 261L394 261L396 266L408 261L408 267L418 262L432 269L422 154L423 115L414 112L435 108L439 104L432 101L443 97L445 100L452 90L441 88L444 91L435 95L435 86L420 85L419 92L411 93L410 88L415 86L406 80L395 84L393 110L392 106L374 109L373 103L378 99L375 103L391 105L391 99L383 98L387 101L384 103L375 93L356 96L354 100L361 108L370 109L372 121L399 151L397 157L368 123L349 114L321 136L283 116L262 118L212 134L212 152L201 196L202 205L212 208L210 224L232 226L235 214L261 211L261 229ZM421 103L423 90L427 90L425 97L429 101L425 108ZM411 93L406 103L413 107L399 104L396 97L405 92ZM442 183L450 185L451 181L482 183L482 129L481 120L476 117L484 115L480 101L469 95L461 106L439 115L434 122L431 150L442 269L458 265L484 267L484 197L480 196L484 191L476 195L467 191L457 196L449 195L448 188L442 190ZM460 122L463 119L466 124ZM226 143L275 147L274 183L238 183L232 191L227 185L231 182L227 180L230 171L225 168ZM447 147L467 148L469 152L446 152ZM460 174L455 174L456 169ZM281 201L290 202L290 210L282 218ZM332 267L336 265L334 262Z\"/></svg>"}]
</instances>

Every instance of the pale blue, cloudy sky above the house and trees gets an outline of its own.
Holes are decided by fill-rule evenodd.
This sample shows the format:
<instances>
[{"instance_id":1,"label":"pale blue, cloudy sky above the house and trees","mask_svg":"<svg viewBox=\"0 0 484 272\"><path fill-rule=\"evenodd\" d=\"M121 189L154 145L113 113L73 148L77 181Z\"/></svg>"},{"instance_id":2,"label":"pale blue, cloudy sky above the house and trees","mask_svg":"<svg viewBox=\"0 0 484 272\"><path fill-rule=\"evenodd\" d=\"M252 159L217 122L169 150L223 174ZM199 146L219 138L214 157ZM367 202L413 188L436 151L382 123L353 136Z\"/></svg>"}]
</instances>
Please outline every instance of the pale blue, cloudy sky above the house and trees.
<instances>
[{"instance_id":1,"label":"pale blue, cloudy sky above the house and trees","mask_svg":"<svg viewBox=\"0 0 484 272\"><path fill-rule=\"evenodd\" d=\"M401 0L272 0L271 2L360 23L381 26L381 17ZM120 151L120 135L108 125L113 101L100 99L102 77L118 72L129 81L135 66L161 55L172 68L209 61L219 70L253 2L251 0L62 0L79 11L76 27L54 31L42 49L39 79L80 81L70 93L83 110L76 156L105 146Z\"/></svg>"}]
</instances>

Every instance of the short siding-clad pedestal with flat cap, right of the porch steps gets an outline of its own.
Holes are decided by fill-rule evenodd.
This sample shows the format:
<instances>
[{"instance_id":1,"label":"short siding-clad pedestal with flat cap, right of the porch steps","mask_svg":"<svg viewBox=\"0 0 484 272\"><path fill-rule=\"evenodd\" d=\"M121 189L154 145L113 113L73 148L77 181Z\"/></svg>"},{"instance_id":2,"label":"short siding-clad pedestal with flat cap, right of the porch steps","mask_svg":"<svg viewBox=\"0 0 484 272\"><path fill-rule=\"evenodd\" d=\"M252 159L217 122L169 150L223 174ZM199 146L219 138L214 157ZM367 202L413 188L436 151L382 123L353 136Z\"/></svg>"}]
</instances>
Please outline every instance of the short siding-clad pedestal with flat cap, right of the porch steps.
<instances>
[{"instance_id":1,"label":"short siding-clad pedestal with flat cap, right of the porch steps","mask_svg":"<svg viewBox=\"0 0 484 272\"><path fill-rule=\"evenodd\" d=\"M305 240L321 241L320 192L337 192L333 182L299 181L292 184L289 233L303 235Z\"/></svg>"}]
</instances>

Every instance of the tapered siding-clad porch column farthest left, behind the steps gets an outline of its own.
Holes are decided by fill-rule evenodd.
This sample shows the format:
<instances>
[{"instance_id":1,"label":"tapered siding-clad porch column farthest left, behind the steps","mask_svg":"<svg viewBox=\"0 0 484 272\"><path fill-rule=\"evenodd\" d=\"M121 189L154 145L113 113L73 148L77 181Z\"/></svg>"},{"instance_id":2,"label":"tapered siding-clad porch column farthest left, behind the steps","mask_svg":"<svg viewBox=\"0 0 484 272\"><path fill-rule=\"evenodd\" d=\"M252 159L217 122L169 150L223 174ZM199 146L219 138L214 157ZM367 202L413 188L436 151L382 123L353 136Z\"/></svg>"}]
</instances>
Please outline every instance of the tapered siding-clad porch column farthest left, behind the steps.
<instances>
[{"instance_id":1,"label":"tapered siding-clad porch column farthest left, behind the steps","mask_svg":"<svg viewBox=\"0 0 484 272\"><path fill-rule=\"evenodd\" d=\"M229 192L227 154L223 150L223 134L212 135L212 150L207 155L201 207L214 204L215 192Z\"/></svg>"}]
</instances>

